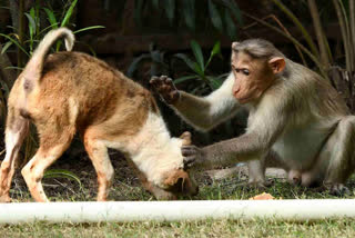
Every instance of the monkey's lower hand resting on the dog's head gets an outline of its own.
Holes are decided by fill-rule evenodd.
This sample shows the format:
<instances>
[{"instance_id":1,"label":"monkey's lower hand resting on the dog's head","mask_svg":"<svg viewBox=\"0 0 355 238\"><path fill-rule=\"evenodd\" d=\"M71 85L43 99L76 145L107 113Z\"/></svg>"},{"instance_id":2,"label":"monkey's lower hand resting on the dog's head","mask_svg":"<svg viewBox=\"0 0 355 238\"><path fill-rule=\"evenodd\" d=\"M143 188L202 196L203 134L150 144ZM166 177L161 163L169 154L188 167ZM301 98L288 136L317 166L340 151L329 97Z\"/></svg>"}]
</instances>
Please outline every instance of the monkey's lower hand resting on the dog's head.
<instances>
[{"instance_id":1,"label":"monkey's lower hand resting on the dog's head","mask_svg":"<svg viewBox=\"0 0 355 238\"><path fill-rule=\"evenodd\" d=\"M196 146L183 146L181 152L184 157L184 168L199 168L204 162L205 152Z\"/></svg>"}]
</instances>

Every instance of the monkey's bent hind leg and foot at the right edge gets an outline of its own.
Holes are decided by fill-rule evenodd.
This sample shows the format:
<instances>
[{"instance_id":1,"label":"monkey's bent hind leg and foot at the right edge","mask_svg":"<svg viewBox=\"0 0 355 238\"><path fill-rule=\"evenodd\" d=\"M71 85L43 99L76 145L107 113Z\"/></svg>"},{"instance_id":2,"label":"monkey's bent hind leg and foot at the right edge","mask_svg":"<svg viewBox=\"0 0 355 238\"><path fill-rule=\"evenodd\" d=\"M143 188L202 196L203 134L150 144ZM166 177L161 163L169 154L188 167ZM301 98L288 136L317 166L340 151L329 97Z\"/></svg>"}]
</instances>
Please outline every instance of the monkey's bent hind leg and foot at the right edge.
<instances>
[{"instance_id":1,"label":"monkey's bent hind leg and foot at the right edge","mask_svg":"<svg viewBox=\"0 0 355 238\"><path fill-rule=\"evenodd\" d=\"M324 163L328 160L328 167L324 169L324 185L332 194L342 195L348 192L344 184L354 171L354 145L355 117L349 116L339 121L320 155L318 163ZM316 171L314 177L322 175L322 165L318 168L321 171Z\"/></svg>"}]
</instances>

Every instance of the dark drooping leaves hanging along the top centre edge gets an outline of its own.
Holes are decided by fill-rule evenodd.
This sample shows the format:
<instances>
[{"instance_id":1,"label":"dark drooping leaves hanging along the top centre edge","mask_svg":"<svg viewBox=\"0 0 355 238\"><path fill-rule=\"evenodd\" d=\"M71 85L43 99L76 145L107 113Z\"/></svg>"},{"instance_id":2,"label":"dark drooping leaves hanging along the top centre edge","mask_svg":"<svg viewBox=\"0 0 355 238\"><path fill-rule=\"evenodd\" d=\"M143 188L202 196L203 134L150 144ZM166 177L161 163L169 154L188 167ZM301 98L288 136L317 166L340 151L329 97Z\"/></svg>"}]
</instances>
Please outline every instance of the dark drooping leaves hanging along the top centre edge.
<instances>
[{"instance_id":1,"label":"dark drooping leaves hanging along the top centre edge","mask_svg":"<svg viewBox=\"0 0 355 238\"><path fill-rule=\"evenodd\" d=\"M235 22L243 24L235 0L135 0L134 19L141 23L144 11L161 11L161 9L164 16L160 17L165 17L171 27L183 26L193 32L197 29L196 26L201 30L212 24L217 31L234 39L237 33Z\"/></svg>"}]
</instances>

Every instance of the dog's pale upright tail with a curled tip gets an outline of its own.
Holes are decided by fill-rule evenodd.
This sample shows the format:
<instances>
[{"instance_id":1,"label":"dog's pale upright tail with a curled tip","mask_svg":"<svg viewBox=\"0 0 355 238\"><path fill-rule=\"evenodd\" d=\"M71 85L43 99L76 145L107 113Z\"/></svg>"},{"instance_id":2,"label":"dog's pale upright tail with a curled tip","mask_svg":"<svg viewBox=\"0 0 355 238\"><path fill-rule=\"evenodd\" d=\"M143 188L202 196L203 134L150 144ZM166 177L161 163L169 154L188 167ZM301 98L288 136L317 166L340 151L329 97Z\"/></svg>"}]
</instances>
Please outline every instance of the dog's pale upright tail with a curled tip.
<instances>
[{"instance_id":1,"label":"dog's pale upright tail with a curled tip","mask_svg":"<svg viewBox=\"0 0 355 238\"><path fill-rule=\"evenodd\" d=\"M51 30L44 36L43 40L40 42L36 51L33 52L32 58L24 68L23 76L27 80L30 80L32 82L38 82L40 80L47 54L52 44L60 38L64 38L67 50L72 50L75 38L71 30L69 30L68 28Z\"/></svg>"}]
</instances>

